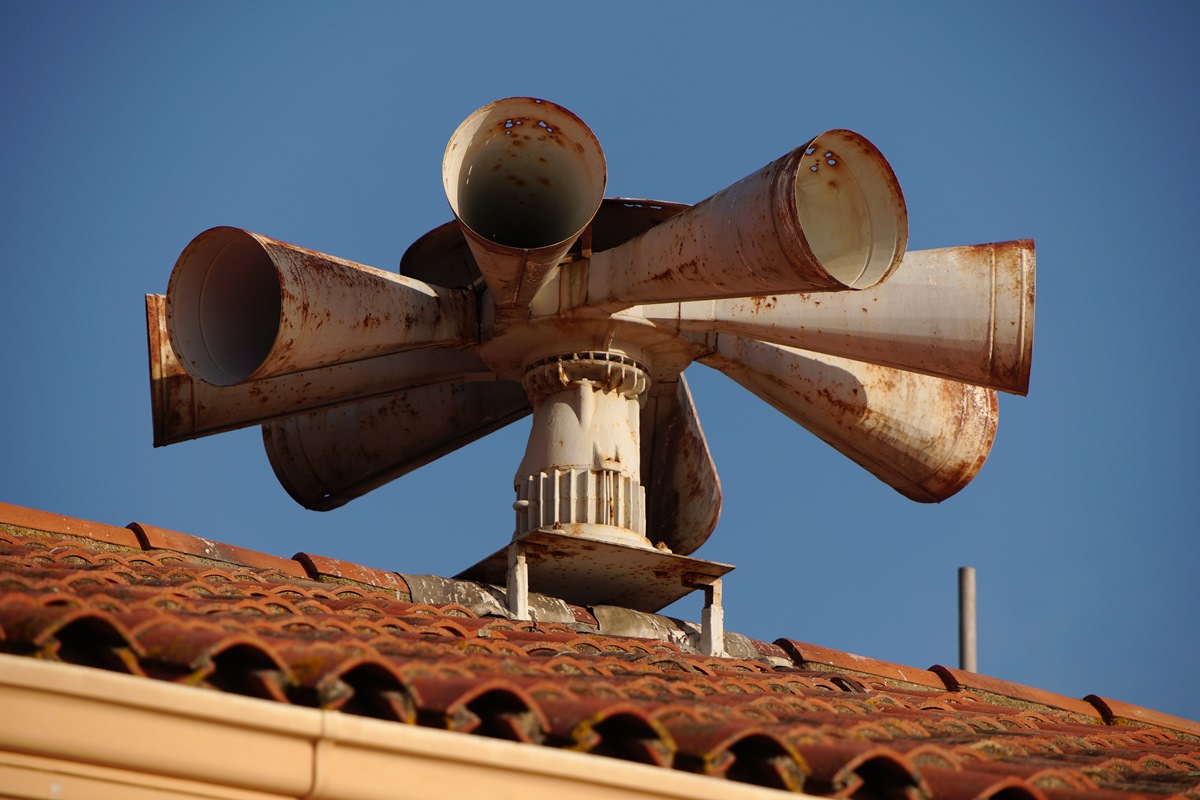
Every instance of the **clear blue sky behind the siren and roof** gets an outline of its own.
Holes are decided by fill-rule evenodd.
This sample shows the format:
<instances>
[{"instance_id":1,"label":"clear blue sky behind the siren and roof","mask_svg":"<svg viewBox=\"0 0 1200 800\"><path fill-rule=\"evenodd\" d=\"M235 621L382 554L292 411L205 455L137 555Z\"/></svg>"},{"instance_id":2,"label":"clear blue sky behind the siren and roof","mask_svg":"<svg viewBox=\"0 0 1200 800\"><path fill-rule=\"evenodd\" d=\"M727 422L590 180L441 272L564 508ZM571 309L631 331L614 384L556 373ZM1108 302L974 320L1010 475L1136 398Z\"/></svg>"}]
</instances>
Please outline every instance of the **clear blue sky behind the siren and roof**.
<instances>
[{"instance_id":1,"label":"clear blue sky behind the siren and roof","mask_svg":"<svg viewBox=\"0 0 1200 800\"><path fill-rule=\"evenodd\" d=\"M329 513L257 429L151 447L143 295L192 236L395 269L451 216L450 133L514 95L593 127L610 196L695 203L848 127L912 249L1037 240L1032 387L924 506L694 366L727 626L954 666L972 565L982 672L1200 718L1196 30L1188 2L5 2L0 499L454 575L511 535L528 423Z\"/></svg>"}]
</instances>

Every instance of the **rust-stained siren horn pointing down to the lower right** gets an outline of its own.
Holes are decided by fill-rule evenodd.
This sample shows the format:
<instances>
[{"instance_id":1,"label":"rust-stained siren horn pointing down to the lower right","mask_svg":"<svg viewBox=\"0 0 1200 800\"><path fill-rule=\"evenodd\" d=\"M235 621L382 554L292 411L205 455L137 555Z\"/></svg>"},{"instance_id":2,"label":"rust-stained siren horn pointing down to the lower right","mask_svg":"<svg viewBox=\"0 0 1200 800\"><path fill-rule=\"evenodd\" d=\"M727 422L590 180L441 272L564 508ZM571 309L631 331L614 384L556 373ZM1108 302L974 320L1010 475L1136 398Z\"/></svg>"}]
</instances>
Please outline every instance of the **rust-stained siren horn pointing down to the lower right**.
<instances>
[{"instance_id":1,"label":"rust-stained siren horn pointing down to the lower right","mask_svg":"<svg viewBox=\"0 0 1200 800\"><path fill-rule=\"evenodd\" d=\"M920 503L970 483L996 435L990 389L727 335L700 361Z\"/></svg>"}]
</instances>

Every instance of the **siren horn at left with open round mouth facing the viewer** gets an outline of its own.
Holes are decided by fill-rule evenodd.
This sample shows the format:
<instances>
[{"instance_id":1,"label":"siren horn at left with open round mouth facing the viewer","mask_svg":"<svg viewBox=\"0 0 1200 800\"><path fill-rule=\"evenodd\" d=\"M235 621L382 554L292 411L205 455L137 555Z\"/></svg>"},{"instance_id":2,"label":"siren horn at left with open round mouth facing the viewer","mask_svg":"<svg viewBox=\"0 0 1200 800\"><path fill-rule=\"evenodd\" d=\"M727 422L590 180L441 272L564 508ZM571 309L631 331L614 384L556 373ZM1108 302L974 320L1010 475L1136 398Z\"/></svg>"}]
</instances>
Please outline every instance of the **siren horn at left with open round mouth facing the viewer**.
<instances>
[{"instance_id":1,"label":"siren horn at left with open round mouth facing the viewer","mask_svg":"<svg viewBox=\"0 0 1200 800\"><path fill-rule=\"evenodd\" d=\"M205 230L167 285L170 344L218 386L478 339L466 293L239 228Z\"/></svg>"}]
</instances>

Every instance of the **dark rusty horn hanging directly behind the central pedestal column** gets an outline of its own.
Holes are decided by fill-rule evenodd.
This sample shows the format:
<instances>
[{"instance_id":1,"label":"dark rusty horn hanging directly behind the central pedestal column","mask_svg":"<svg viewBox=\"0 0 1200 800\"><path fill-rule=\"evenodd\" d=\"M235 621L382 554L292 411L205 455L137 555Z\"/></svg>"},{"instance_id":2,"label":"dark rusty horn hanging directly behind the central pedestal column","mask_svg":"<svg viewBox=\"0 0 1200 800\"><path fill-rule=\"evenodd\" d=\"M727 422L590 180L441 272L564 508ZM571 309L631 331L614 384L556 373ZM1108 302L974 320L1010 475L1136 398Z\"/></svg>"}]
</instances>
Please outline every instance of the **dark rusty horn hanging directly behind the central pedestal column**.
<instances>
[{"instance_id":1,"label":"dark rusty horn hanging directly behind the central pedestal column","mask_svg":"<svg viewBox=\"0 0 1200 800\"><path fill-rule=\"evenodd\" d=\"M721 516L721 480L683 375L650 386L641 437L646 534L673 553L694 553Z\"/></svg>"}]
</instances>

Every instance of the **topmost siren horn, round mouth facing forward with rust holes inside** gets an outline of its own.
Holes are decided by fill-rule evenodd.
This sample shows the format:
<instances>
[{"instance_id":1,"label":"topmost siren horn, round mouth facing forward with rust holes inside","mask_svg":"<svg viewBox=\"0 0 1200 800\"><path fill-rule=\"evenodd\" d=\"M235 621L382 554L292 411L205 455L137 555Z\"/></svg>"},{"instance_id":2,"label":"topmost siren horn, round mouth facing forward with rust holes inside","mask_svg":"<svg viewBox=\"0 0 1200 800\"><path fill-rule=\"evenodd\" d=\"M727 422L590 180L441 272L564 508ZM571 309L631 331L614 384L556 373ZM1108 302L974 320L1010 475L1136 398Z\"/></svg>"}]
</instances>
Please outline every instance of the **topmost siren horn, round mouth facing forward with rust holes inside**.
<instances>
[{"instance_id":1,"label":"topmost siren horn, round mouth facing forward with rust holes inside","mask_svg":"<svg viewBox=\"0 0 1200 800\"><path fill-rule=\"evenodd\" d=\"M595 134L562 106L510 97L458 126L442 181L498 306L533 297L592 222L606 180Z\"/></svg>"}]
</instances>

